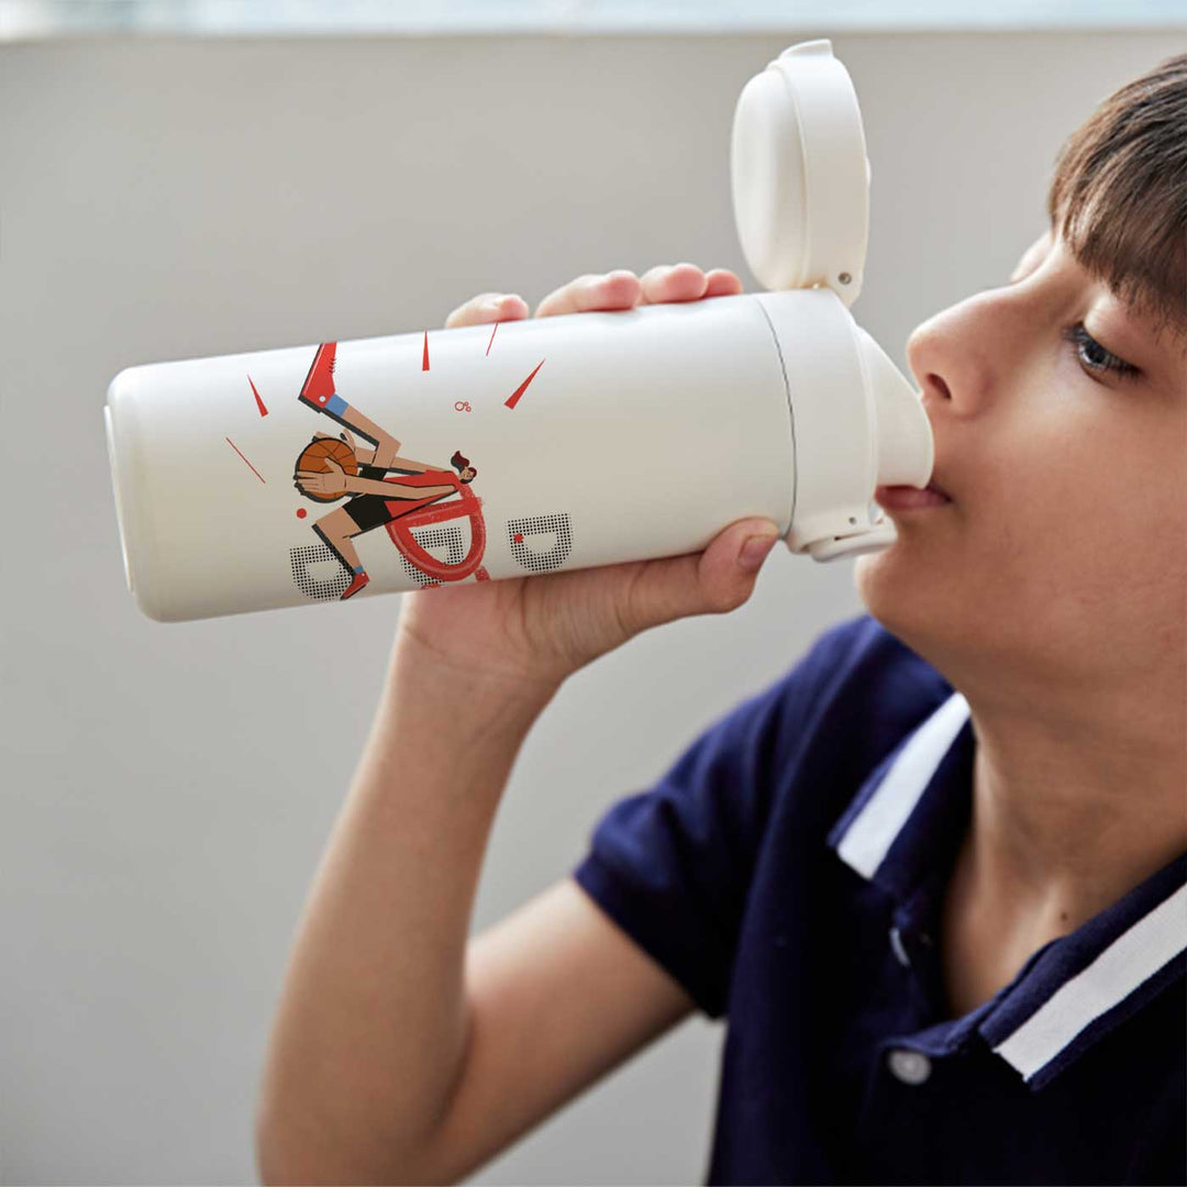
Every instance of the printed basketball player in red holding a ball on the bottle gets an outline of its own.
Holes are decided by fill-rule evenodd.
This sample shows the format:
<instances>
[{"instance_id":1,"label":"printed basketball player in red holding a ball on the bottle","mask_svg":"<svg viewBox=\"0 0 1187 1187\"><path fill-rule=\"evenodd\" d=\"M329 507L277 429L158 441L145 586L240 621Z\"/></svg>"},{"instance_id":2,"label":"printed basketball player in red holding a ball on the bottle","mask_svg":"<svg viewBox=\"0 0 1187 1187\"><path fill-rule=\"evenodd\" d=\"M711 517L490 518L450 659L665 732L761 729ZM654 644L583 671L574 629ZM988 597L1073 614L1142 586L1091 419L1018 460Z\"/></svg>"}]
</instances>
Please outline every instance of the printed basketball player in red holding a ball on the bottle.
<instances>
[{"instance_id":1,"label":"printed basketball player in red holding a ball on the bottle","mask_svg":"<svg viewBox=\"0 0 1187 1187\"><path fill-rule=\"evenodd\" d=\"M341 601L345 601L370 580L358 559L358 552L350 542L351 537L382 527L446 495L459 493L462 483L472 482L478 471L459 450L455 450L450 458L458 471L456 475L426 462L400 457L401 443L335 391L336 349L335 342L325 342L317 348L298 399L339 421L344 426L341 434L344 444L328 433L315 433L315 444L326 442L324 453L318 458L326 469L300 469L298 459L293 485L316 502L350 496L343 506L336 507L311 525L350 573L350 584L341 596ZM360 447L350 433L351 429L375 442L375 447ZM305 458L311 449L312 446L306 446L301 457ZM341 462L335 461L335 455ZM309 464L312 463L306 462ZM389 470L402 472L399 478L385 478L383 475Z\"/></svg>"}]
</instances>

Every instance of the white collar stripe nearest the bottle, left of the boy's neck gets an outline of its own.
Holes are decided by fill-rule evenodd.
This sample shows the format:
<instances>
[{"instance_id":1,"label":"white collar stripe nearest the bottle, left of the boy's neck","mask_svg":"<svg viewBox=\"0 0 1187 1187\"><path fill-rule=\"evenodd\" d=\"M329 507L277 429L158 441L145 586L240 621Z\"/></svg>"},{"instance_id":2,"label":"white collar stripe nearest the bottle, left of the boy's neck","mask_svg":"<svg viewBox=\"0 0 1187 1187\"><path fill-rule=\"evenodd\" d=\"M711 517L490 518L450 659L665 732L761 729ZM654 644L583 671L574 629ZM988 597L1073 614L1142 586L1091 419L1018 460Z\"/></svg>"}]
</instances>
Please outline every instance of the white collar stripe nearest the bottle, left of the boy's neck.
<instances>
[{"instance_id":1,"label":"white collar stripe nearest the bottle, left of the boy's neck","mask_svg":"<svg viewBox=\"0 0 1187 1187\"><path fill-rule=\"evenodd\" d=\"M871 877L882 864L967 719L969 702L954 692L908 738L837 846L858 874Z\"/></svg>"}]
</instances>

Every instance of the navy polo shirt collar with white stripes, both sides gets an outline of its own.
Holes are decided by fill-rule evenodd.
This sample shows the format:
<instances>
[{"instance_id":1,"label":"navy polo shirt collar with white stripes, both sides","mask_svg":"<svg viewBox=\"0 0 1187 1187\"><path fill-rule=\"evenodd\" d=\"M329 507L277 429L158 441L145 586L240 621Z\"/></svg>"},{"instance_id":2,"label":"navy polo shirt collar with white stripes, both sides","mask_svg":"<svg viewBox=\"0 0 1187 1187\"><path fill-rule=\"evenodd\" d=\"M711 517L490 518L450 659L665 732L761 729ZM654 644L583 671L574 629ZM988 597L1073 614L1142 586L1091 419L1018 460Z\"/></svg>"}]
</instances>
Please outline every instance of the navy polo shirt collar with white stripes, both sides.
<instances>
[{"instance_id":1,"label":"navy polo shirt collar with white stripes, both sides","mask_svg":"<svg viewBox=\"0 0 1187 1187\"><path fill-rule=\"evenodd\" d=\"M967 827L975 745L969 703L953 692L878 763L829 845L900 903L925 883L939 889ZM976 1032L1037 1090L1185 969L1187 853L1043 945L991 1001L925 1035L947 1050Z\"/></svg>"}]
</instances>

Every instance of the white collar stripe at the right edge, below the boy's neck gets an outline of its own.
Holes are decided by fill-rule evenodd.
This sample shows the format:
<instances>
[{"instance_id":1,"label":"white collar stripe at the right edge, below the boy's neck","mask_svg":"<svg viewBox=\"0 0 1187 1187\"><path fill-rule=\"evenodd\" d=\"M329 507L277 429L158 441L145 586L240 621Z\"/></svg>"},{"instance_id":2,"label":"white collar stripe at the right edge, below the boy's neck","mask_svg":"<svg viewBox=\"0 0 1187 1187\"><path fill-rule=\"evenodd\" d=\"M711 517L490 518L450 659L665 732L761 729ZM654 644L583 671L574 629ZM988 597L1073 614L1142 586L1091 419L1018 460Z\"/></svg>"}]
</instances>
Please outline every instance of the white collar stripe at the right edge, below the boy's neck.
<instances>
[{"instance_id":1,"label":"white collar stripe at the right edge, below the boy's neck","mask_svg":"<svg viewBox=\"0 0 1187 1187\"><path fill-rule=\"evenodd\" d=\"M1187 886L1118 935L992 1049L1029 1080L1086 1026L1126 998L1187 945Z\"/></svg>"}]
</instances>

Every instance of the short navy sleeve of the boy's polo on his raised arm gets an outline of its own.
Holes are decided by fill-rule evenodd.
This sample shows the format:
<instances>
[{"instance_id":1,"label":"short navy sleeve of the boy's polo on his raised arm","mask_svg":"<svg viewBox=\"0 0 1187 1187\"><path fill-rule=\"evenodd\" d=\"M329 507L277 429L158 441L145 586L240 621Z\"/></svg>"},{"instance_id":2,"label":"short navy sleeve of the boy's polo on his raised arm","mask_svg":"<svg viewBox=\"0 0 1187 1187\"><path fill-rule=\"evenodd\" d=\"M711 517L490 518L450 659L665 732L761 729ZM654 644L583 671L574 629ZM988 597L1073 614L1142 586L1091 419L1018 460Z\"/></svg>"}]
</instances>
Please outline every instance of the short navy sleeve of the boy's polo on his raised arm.
<instances>
[{"instance_id":1,"label":"short navy sleeve of the boy's polo on his raised arm","mask_svg":"<svg viewBox=\"0 0 1187 1187\"><path fill-rule=\"evenodd\" d=\"M709 725L650 788L611 805L572 870L578 886L711 1018L729 983L756 856L789 743L852 623L825 631L768 687Z\"/></svg>"}]
</instances>

